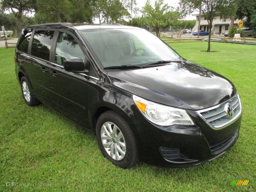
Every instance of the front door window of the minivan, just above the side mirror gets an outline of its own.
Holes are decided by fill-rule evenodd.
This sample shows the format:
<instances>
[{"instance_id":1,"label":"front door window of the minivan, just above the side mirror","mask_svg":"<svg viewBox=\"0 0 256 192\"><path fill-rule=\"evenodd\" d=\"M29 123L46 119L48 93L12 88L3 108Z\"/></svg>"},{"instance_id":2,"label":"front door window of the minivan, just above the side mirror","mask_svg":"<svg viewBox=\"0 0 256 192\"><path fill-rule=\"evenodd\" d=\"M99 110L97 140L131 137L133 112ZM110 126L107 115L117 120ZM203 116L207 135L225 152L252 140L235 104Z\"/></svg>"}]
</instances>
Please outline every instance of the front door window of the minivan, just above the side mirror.
<instances>
[{"instance_id":1,"label":"front door window of the minivan, just above the side mirror","mask_svg":"<svg viewBox=\"0 0 256 192\"><path fill-rule=\"evenodd\" d=\"M78 57L84 61L84 53L77 41L69 34L60 32L56 45L55 63L63 66L67 58Z\"/></svg>"}]
</instances>

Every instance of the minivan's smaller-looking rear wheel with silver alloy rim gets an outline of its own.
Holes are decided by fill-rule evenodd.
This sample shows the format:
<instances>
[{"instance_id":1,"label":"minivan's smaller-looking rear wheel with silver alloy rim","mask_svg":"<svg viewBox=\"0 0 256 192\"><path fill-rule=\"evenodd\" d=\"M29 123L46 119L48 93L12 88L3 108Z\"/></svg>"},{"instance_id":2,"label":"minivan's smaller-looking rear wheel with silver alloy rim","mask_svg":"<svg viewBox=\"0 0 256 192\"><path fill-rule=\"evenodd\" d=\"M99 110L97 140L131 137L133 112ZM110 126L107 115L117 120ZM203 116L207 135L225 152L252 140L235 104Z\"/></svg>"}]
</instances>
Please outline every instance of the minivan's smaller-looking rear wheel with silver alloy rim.
<instances>
[{"instance_id":1,"label":"minivan's smaller-looking rear wheel with silver alloy rim","mask_svg":"<svg viewBox=\"0 0 256 192\"><path fill-rule=\"evenodd\" d=\"M20 79L20 85L21 85L23 99L27 105L36 106L41 103L37 98L34 97L31 86L28 83L28 80L26 79L26 77L22 77Z\"/></svg>"}]
</instances>

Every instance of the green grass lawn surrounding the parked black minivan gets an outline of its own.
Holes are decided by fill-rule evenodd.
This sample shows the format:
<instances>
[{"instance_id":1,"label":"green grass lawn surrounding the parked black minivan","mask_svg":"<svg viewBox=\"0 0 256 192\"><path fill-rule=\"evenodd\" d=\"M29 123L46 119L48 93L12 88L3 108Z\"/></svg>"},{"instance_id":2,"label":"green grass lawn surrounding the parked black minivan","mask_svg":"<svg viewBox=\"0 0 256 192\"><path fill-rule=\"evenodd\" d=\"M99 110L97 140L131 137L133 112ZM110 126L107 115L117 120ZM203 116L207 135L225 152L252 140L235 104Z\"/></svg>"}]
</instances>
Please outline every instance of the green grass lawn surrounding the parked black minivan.
<instances>
[{"instance_id":1,"label":"green grass lawn surrounding the parked black minivan","mask_svg":"<svg viewBox=\"0 0 256 192\"><path fill-rule=\"evenodd\" d=\"M0 48L0 191L256 191L256 46L171 44L184 58L236 86L243 121L237 143L222 157L189 168L145 163L123 170L105 159L96 137L44 105L29 107L14 72L14 49ZM230 186L232 180L250 180ZM48 187L6 186L7 182Z\"/></svg>"}]
</instances>

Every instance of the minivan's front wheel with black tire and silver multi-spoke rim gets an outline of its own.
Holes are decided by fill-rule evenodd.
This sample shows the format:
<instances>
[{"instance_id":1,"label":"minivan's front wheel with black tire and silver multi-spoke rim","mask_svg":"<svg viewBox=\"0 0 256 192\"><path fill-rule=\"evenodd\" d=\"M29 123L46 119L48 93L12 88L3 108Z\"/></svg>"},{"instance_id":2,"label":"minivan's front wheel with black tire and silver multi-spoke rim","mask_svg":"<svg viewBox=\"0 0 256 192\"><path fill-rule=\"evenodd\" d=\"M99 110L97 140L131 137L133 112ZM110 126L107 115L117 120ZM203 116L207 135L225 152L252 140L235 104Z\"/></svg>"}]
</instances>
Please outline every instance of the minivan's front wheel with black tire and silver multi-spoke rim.
<instances>
[{"instance_id":1,"label":"minivan's front wheel with black tire and silver multi-spoke rim","mask_svg":"<svg viewBox=\"0 0 256 192\"><path fill-rule=\"evenodd\" d=\"M96 124L96 137L102 154L123 169L137 163L138 151L132 130L114 111L107 111Z\"/></svg>"}]
</instances>

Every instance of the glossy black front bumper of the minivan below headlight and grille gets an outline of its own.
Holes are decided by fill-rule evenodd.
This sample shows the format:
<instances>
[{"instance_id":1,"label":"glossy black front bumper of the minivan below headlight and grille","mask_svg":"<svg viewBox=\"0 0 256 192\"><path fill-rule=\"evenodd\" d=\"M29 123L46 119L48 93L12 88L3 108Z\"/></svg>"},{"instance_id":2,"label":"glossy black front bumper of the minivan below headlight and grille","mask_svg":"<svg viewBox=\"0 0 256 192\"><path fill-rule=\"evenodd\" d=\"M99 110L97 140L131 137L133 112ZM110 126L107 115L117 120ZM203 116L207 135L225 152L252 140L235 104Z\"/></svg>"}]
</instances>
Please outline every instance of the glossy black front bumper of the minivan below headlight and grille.
<instances>
[{"instance_id":1,"label":"glossy black front bumper of the minivan below headlight and grille","mask_svg":"<svg viewBox=\"0 0 256 192\"><path fill-rule=\"evenodd\" d=\"M195 166L221 156L236 143L241 116L221 130L213 130L201 118L196 118L200 127L158 127L150 122L130 124L140 159L158 166Z\"/></svg>"}]
</instances>

